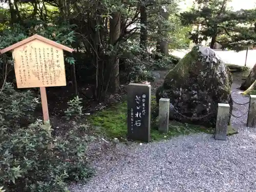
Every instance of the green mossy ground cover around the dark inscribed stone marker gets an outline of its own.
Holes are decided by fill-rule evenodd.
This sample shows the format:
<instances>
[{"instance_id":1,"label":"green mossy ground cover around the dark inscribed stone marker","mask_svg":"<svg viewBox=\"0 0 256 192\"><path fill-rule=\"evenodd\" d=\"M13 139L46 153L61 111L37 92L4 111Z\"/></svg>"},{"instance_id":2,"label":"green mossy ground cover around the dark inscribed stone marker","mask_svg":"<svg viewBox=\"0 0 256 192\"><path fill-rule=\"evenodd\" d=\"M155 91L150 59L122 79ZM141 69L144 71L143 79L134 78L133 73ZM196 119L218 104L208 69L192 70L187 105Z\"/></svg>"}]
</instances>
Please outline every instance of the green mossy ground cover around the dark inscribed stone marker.
<instances>
[{"instance_id":1,"label":"green mossy ground cover around the dark inscribed stone marker","mask_svg":"<svg viewBox=\"0 0 256 192\"><path fill-rule=\"evenodd\" d=\"M155 97L152 97L151 102L151 137L152 140L162 140L179 135L188 135L190 133L206 132L213 133L213 130L205 129L203 126L190 125L177 121L169 122L169 132L160 134L157 130L157 102ZM92 125L101 127L103 133L111 138L125 140L127 133L127 103L121 101L109 109L102 110L89 118Z\"/></svg>"}]
</instances>

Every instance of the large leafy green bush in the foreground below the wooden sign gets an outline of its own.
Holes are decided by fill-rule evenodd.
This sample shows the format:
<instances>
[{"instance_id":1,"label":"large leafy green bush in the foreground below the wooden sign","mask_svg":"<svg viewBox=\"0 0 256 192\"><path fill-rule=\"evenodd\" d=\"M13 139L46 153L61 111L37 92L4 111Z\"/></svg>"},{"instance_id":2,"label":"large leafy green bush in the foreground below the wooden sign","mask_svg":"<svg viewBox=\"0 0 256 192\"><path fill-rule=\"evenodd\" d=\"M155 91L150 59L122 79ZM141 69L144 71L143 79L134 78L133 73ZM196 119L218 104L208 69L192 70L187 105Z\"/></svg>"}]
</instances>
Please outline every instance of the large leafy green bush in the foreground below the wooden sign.
<instances>
[{"instance_id":1,"label":"large leafy green bush in the foreground below the wooden sign","mask_svg":"<svg viewBox=\"0 0 256 192\"><path fill-rule=\"evenodd\" d=\"M67 181L92 174L86 160L90 137L79 126L63 137L52 137L50 124L40 120L13 133L2 126L0 132L0 185L7 191L65 192Z\"/></svg>"}]
</instances>

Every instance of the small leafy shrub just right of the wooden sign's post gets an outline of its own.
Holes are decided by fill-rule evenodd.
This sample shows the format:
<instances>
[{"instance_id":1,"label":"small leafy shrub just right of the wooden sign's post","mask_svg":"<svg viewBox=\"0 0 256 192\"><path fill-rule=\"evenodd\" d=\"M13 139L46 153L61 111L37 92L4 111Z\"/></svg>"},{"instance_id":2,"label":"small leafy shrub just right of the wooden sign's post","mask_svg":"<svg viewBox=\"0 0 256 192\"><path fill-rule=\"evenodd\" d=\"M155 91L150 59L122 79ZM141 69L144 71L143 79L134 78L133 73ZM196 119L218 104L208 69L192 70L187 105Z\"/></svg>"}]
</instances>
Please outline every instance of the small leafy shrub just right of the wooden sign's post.
<instances>
[{"instance_id":1,"label":"small leafy shrub just right of the wooden sign's post","mask_svg":"<svg viewBox=\"0 0 256 192\"><path fill-rule=\"evenodd\" d=\"M68 102L68 109L65 111L65 117L67 120L71 118L79 118L82 116L82 99L78 96L74 97Z\"/></svg>"}]
</instances>

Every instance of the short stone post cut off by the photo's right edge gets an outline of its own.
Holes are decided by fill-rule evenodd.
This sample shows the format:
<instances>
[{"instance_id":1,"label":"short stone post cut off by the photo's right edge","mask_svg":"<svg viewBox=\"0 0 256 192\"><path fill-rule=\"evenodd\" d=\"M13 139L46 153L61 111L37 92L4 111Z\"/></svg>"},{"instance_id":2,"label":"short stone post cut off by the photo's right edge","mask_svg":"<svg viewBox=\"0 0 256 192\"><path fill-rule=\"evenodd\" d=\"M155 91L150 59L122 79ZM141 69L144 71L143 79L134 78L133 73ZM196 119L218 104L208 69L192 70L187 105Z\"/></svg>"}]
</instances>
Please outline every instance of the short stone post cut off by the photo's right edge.
<instances>
[{"instance_id":1,"label":"short stone post cut off by the photo's right edge","mask_svg":"<svg viewBox=\"0 0 256 192\"><path fill-rule=\"evenodd\" d=\"M247 126L255 127L255 125L256 125L256 95L250 95Z\"/></svg>"}]
</instances>

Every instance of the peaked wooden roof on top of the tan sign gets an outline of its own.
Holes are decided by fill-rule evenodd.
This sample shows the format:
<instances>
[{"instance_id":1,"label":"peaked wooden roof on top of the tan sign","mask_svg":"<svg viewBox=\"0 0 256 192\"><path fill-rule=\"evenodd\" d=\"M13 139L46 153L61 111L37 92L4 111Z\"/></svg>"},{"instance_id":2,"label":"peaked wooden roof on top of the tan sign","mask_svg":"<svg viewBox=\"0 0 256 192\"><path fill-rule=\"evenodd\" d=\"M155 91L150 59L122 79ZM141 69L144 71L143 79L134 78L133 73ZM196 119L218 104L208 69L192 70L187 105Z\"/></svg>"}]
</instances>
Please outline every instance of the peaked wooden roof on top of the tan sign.
<instances>
[{"instance_id":1,"label":"peaked wooden roof on top of the tan sign","mask_svg":"<svg viewBox=\"0 0 256 192\"><path fill-rule=\"evenodd\" d=\"M55 42L53 40L50 40L48 38L45 38L45 37L42 37L40 35L35 34L35 35L33 35L31 37L28 37L28 38L26 38L26 39L24 39L22 41L16 42L16 44L13 44L12 46L9 46L9 47L7 47L5 49L0 50L0 53L3 54L5 52L7 52L7 51L11 51L11 50L13 50L13 49L15 49L15 48L17 48L19 46L27 44L28 42L30 42L30 41L32 41L34 39L38 39L40 41L46 42L49 45L55 46L55 47L57 47L59 49L62 49L62 50L65 50L65 51L68 51L68 52L71 52L71 53L74 51L73 49L71 49L71 48L69 48L67 46L63 46L63 45L59 44L58 42Z\"/></svg>"}]
</instances>

